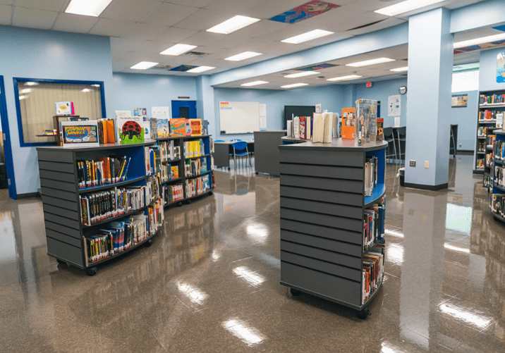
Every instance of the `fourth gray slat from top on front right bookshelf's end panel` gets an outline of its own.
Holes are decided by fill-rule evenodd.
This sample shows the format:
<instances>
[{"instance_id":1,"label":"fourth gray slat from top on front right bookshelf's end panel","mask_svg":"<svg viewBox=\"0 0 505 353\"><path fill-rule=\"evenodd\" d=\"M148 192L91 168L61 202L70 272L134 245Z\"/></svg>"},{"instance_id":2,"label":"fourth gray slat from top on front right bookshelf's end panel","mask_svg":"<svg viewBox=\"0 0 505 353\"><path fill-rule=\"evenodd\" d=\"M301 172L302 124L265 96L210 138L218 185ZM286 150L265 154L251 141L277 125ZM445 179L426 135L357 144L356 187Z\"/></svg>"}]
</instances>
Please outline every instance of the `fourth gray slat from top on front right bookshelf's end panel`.
<instances>
[{"instance_id":1,"label":"fourth gray slat from top on front right bookshelf's end panel","mask_svg":"<svg viewBox=\"0 0 505 353\"><path fill-rule=\"evenodd\" d=\"M281 186L281 196L296 197L297 199L331 202L334 204L348 204L363 206L363 194L348 192L304 189L303 187Z\"/></svg>"}]
</instances>

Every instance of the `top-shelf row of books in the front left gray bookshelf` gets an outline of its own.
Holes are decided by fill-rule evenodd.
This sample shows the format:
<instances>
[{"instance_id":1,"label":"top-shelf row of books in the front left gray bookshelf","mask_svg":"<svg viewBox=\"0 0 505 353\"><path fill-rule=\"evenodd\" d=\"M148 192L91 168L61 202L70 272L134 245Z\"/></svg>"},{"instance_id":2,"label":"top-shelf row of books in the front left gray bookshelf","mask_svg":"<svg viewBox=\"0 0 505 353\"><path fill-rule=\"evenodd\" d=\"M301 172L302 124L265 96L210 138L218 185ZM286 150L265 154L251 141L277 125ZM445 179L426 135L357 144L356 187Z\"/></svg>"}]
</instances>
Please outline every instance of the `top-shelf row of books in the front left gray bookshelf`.
<instances>
[{"instance_id":1,"label":"top-shelf row of books in the front left gray bookshelf","mask_svg":"<svg viewBox=\"0 0 505 353\"><path fill-rule=\"evenodd\" d=\"M98 157L77 161L77 178L80 189L126 180L131 158L126 156Z\"/></svg>"}]
</instances>

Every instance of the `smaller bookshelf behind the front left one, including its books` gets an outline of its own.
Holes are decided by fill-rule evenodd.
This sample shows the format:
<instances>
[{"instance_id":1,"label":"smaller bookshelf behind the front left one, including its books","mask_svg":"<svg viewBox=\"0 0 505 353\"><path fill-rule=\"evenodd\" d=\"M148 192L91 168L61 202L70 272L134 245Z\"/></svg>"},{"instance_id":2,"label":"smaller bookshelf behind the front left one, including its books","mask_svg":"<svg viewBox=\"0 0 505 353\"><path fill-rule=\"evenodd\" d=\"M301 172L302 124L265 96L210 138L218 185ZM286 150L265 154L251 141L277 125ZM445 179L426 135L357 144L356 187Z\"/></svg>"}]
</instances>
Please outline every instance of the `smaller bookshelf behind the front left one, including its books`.
<instances>
[{"instance_id":1,"label":"smaller bookshelf behind the front left one, including its books","mask_svg":"<svg viewBox=\"0 0 505 353\"><path fill-rule=\"evenodd\" d=\"M200 142L202 141L203 149L199 149L197 152L190 147L188 142ZM181 137L165 137L156 139L158 144L162 144L162 142L173 142L175 147L179 147L180 158L177 159L169 159L167 161L162 161L162 164L169 164L170 166L178 167L178 177L171 178L170 180L166 180L162 182L164 186L164 190L167 192L171 192L170 187L180 187L182 190L181 198L171 200L167 197L164 197L165 207L178 205L182 206L183 202L186 204L190 204L193 199L197 197L201 197L204 195L212 194L212 189L214 189L214 174L212 173L212 141L211 135L202 135L202 136L181 136ZM204 171L195 171L193 170L193 166L190 167L190 175L186 175L186 166L188 164L191 165L191 161L205 160L205 169ZM203 163L200 163L203 164ZM202 167L202 166L200 166ZM205 180L208 179L208 185ZM202 182L203 180L203 182ZM193 187L194 192L190 193L191 187L188 187L188 184L195 184ZM181 187L182 185L182 187Z\"/></svg>"}]
</instances>

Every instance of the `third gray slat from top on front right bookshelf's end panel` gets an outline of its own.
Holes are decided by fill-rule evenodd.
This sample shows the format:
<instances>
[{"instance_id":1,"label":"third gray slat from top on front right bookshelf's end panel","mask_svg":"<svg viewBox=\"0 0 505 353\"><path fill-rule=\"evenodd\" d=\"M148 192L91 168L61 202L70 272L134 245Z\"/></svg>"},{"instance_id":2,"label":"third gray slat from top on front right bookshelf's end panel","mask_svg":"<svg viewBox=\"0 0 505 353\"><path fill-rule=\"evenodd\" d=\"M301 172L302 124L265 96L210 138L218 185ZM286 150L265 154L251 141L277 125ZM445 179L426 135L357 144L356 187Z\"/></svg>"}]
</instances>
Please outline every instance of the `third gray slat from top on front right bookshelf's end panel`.
<instances>
[{"instance_id":1,"label":"third gray slat from top on front right bookshelf's end panel","mask_svg":"<svg viewBox=\"0 0 505 353\"><path fill-rule=\"evenodd\" d=\"M337 175L334 175L336 178ZM314 189L346 191L363 194L363 182L358 180L317 178L300 175L281 175L281 185Z\"/></svg>"}]
</instances>

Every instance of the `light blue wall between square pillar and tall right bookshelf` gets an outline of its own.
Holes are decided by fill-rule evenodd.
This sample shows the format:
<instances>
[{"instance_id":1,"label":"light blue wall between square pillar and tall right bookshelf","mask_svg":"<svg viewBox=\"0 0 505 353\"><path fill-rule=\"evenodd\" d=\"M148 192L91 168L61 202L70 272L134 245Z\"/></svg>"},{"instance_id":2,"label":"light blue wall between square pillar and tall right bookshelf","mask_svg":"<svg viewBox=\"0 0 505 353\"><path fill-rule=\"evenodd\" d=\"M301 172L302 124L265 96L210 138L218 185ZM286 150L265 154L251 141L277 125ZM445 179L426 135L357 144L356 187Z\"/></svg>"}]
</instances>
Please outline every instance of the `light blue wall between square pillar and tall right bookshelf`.
<instances>
[{"instance_id":1,"label":"light blue wall between square pillar and tall right bookshelf","mask_svg":"<svg viewBox=\"0 0 505 353\"><path fill-rule=\"evenodd\" d=\"M475 151L479 92L453 93L453 95L456 94L468 94L468 106L465 108L451 108L451 124L458 124L458 149ZM461 147L459 147L459 144L461 144Z\"/></svg>"}]
</instances>

